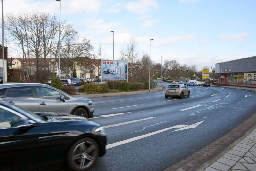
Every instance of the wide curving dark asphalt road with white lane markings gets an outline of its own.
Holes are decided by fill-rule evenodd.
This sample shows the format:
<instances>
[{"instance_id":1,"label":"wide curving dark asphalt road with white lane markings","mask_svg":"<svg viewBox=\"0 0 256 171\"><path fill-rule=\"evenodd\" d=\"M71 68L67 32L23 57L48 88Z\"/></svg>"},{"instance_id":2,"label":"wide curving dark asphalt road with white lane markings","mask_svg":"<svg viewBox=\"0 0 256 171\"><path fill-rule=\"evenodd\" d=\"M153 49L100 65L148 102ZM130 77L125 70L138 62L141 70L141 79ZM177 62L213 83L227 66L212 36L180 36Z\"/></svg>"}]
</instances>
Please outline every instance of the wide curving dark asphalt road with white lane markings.
<instances>
[{"instance_id":1,"label":"wide curving dark asphalt road with white lane markings","mask_svg":"<svg viewBox=\"0 0 256 171\"><path fill-rule=\"evenodd\" d=\"M163 170L255 113L254 92L189 89L190 97L183 99L166 99L164 91L91 98L95 107L92 120L105 126L108 137L107 153L92 170Z\"/></svg>"}]
</instances>

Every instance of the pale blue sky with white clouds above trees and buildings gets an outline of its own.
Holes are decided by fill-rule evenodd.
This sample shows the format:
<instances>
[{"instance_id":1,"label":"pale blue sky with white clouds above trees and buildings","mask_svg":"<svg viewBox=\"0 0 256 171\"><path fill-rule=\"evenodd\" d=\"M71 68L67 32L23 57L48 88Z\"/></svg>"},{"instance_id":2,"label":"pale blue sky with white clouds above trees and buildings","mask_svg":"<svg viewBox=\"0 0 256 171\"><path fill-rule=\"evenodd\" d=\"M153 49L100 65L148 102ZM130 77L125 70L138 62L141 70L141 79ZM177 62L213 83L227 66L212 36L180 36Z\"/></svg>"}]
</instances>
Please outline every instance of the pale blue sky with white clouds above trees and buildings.
<instances>
[{"instance_id":1,"label":"pale blue sky with white clouds above trees and buildings","mask_svg":"<svg viewBox=\"0 0 256 171\"><path fill-rule=\"evenodd\" d=\"M7 13L42 11L59 16L56 0L3 0ZM256 55L256 0L62 0L61 20L102 44L104 57L120 58L133 36L139 57L144 52L162 64L213 68L216 63ZM2 17L2 16L1 16ZM149 39L154 39L149 41ZM12 46L8 56L12 56ZM150 47L149 47L150 46ZM14 54L13 54L14 55ZM212 58L212 60L211 60Z\"/></svg>"}]
</instances>

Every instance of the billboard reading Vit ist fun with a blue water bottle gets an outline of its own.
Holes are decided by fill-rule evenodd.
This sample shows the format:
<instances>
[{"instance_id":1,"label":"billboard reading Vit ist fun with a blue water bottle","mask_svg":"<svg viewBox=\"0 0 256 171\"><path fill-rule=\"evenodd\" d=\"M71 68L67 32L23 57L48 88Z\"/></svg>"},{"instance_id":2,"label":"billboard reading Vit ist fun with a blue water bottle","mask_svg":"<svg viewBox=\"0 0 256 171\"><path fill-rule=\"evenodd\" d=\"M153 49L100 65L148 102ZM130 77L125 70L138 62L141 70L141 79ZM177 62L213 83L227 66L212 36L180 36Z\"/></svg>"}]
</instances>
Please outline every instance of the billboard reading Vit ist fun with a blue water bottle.
<instances>
[{"instance_id":1,"label":"billboard reading Vit ist fun with a blue water bottle","mask_svg":"<svg viewBox=\"0 0 256 171\"><path fill-rule=\"evenodd\" d=\"M101 60L102 80L126 80L127 70L126 60Z\"/></svg>"}]
</instances>

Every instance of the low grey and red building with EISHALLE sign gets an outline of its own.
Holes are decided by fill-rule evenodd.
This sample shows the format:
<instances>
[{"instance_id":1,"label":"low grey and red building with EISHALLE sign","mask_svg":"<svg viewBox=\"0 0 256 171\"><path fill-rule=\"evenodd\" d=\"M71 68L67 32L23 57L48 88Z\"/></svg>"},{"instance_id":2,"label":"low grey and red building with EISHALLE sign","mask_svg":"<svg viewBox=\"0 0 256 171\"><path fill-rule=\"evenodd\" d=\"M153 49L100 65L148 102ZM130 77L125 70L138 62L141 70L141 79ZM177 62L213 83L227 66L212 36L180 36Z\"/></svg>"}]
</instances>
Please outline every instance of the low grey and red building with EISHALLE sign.
<instances>
[{"instance_id":1,"label":"low grey and red building with EISHALLE sign","mask_svg":"<svg viewBox=\"0 0 256 171\"><path fill-rule=\"evenodd\" d=\"M222 84L256 87L256 56L217 63L215 73Z\"/></svg>"}]
</instances>

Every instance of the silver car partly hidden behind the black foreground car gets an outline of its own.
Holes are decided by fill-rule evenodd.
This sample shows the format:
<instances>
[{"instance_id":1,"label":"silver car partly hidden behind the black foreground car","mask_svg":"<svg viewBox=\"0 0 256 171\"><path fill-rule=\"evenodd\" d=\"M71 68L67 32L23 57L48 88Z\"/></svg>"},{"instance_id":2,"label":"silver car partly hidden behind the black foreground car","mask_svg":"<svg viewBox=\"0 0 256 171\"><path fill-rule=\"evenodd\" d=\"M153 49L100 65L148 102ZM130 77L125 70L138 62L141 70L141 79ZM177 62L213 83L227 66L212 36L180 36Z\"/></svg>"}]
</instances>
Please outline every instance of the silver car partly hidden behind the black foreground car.
<instances>
[{"instance_id":1,"label":"silver car partly hidden behind the black foreground car","mask_svg":"<svg viewBox=\"0 0 256 171\"><path fill-rule=\"evenodd\" d=\"M94 115L90 99L70 96L46 84L2 84L0 97L31 112L57 112L86 118L92 118Z\"/></svg>"}]
</instances>

